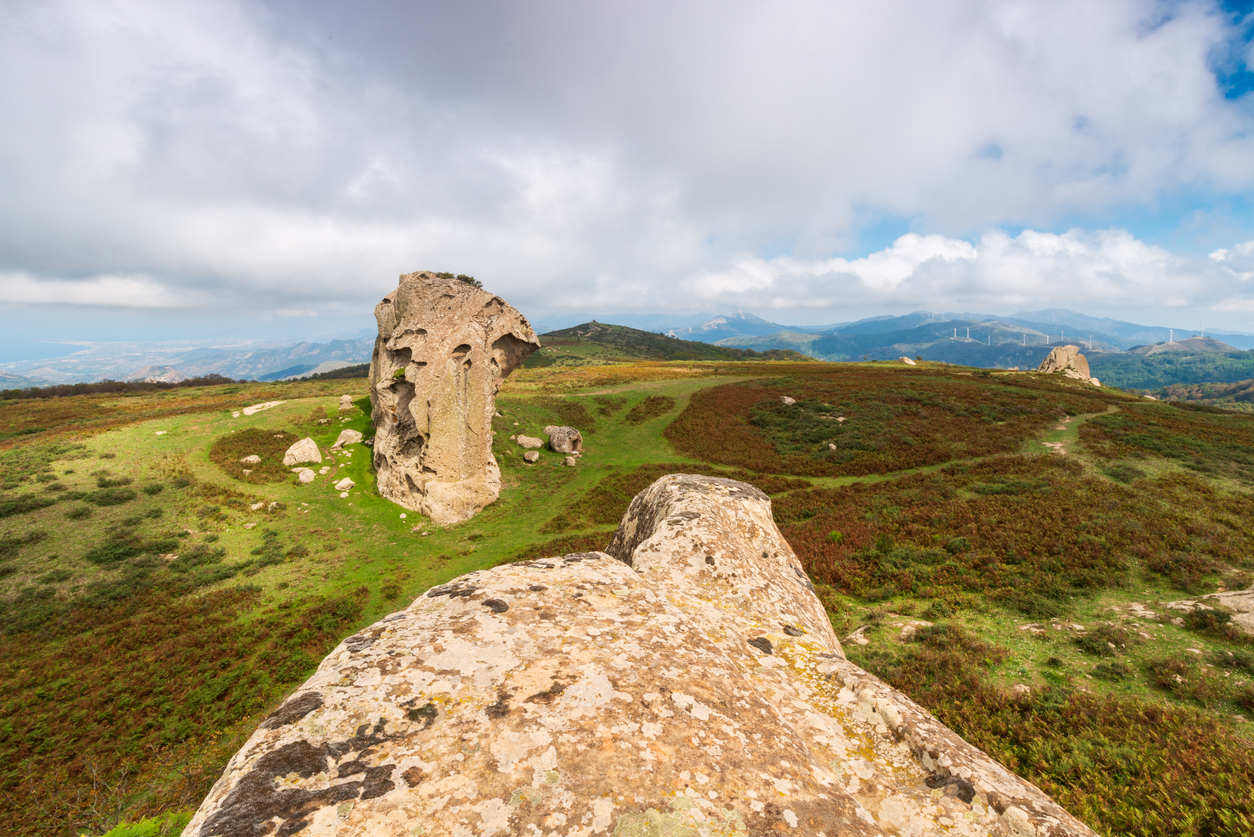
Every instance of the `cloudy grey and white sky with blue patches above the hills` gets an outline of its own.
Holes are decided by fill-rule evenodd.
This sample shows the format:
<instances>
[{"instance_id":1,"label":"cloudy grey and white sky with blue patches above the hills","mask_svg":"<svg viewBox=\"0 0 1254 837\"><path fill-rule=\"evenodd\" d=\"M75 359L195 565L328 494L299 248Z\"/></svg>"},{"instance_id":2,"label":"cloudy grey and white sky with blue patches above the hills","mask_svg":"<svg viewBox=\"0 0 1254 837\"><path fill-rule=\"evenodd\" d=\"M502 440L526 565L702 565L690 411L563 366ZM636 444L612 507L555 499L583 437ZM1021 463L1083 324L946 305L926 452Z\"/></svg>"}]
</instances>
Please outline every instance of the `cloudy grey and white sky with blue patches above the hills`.
<instances>
[{"instance_id":1,"label":"cloudy grey and white sky with blue patches above the hills","mask_svg":"<svg viewBox=\"0 0 1254 837\"><path fill-rule=\"evenodd\" d=\"M1250 4L0 0L0 330L525 314L1254 331ZM4 338L0 338L3 340Z\"/></svg>"}]
</instances>

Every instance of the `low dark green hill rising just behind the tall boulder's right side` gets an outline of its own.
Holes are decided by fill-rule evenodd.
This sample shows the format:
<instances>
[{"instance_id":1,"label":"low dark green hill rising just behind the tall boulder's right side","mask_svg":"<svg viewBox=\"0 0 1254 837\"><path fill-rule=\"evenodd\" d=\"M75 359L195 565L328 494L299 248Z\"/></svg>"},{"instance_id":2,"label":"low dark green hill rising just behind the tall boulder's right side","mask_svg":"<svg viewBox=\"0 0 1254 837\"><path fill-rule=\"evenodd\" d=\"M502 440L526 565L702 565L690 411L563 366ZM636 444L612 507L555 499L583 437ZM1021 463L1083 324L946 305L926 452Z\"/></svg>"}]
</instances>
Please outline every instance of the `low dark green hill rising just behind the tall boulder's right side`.
<instances>
[{"instance_id":1,"label":"low dark green hill rising just behind the tall boulder's right side","mask_svg":"<svg viewBox=\"0 0 1254 837\"><path fill-rule=\"evenodd\" d=\"M756 351L716 346L596 320L542 334L540 344L543 348L528 359L528 369L617 360L809 360L790 349Z\"/></svg>"}]
</instances>

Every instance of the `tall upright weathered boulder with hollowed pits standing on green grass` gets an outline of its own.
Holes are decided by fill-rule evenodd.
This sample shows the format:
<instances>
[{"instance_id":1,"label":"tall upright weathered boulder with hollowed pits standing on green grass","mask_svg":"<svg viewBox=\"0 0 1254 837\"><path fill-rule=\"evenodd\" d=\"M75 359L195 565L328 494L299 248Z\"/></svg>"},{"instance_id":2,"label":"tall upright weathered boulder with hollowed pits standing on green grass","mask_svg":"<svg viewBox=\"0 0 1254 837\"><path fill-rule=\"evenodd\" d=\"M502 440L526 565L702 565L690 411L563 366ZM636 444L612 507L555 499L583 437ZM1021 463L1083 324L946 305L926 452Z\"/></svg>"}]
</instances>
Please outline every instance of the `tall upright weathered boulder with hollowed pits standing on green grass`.
<instances>
[{"instance_id":1,"label":"tall upright weathered boulder with hollowed pits standing on green grass","mask_svg":"<svg viewBox=\"0 0 1254 837\"><path fill-rule=\"evenodd\" d=\"M374 463L384 497L436 523L500 493L492 415L505 375L539 348L527 317L456 279L406 274L375 306Z\"/></svg>"}]
</instances>

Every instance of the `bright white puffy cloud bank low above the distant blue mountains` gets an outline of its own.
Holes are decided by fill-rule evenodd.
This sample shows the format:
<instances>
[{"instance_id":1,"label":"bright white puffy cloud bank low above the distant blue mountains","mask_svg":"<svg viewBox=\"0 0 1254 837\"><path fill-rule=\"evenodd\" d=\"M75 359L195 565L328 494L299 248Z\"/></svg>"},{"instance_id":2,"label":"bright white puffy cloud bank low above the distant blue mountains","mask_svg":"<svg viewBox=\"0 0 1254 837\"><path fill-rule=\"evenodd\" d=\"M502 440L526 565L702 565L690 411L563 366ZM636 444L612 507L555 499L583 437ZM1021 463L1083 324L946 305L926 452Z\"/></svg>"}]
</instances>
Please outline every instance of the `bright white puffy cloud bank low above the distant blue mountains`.
<instances>
[{"instance_id":1,"label":"bright white puffy cloud bank low above the distant blue mountains","mask_svg":"<svg viewBox=\"0 0 1254 837\"><path fill-rule=\"evenodd\" d=\"M1251 247L1234 251L1249 259ZM1125 230L1026 230L1014 237L993 231L974 245L910 233L854 260L744 255L726 270L692 279L686 290L706 305L750 309L964 310L991 300L998 310L1071 300L1111 309L1154 300L1164 309L1250 310L1254 275L1233 270L1229 260L1176 256Z\"/></svg>"}]
</instances>

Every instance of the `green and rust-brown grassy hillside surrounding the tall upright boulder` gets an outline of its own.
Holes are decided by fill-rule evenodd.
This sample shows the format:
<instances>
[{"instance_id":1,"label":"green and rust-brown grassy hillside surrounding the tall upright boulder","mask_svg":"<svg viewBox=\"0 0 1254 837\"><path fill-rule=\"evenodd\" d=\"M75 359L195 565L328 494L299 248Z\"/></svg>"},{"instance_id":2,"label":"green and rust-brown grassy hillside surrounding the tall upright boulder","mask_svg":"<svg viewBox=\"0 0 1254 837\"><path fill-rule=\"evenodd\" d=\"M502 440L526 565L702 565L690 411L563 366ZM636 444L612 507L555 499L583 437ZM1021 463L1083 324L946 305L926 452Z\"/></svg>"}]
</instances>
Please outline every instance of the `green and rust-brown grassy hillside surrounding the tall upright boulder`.
<instances>
[{"instance_id":1,"label":"green and rust-brown grassy hillside surrounding the tall upright boulder","mask_svg":"<svg viewBox=\"0 0 1254 837\"><path fill-rule=\"evenodd\" d=\"M672 472L770 494L850 660L1100 833L1249 833L1251 642L1172 602L1254 581L1254 417L928 363L522 369L500 499L439 528L377 496L360 445L308 486L278 467L292 439L369 435L366 388L0 402L6 833L189 811L345 636L473 570L604 547ZM547 424L583 432L578 467L523 462L510 434Z\"/></svg>"}]
</instances>

